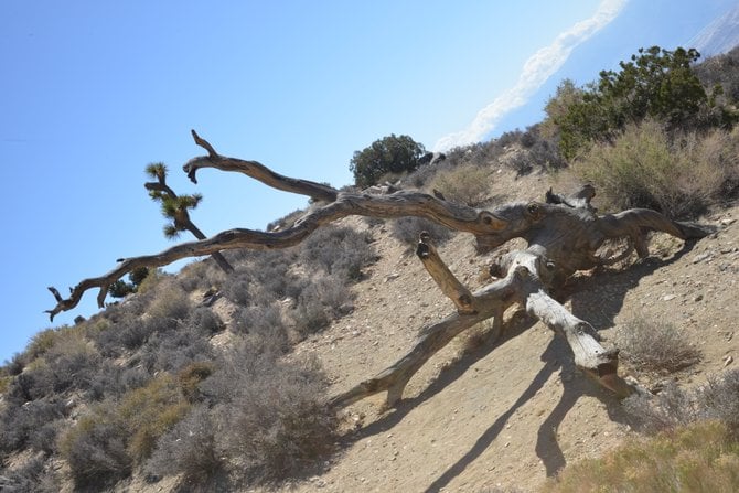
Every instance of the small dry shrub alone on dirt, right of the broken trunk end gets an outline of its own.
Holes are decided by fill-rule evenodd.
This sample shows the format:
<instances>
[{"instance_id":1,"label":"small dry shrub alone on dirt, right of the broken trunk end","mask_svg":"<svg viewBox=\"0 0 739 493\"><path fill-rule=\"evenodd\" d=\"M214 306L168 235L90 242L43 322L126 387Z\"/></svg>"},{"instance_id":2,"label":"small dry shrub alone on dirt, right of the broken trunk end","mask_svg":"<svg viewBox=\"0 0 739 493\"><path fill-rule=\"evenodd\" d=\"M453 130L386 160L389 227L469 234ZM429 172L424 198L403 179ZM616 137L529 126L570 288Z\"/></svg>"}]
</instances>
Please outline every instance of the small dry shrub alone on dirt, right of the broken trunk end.
<instances>
[{"instance_id":1,"label":"small dry shrub alone on dirt, right of the broken trunk end","mask_svg":"<svg viewBox=\"0 0 739 493\"><path fill-rule=\"evenodd\" d=\"M639 369L673 373L697 363L700 352L672 324L634 317L617 336L624 360Z\"/></svg>"}]
</instances>

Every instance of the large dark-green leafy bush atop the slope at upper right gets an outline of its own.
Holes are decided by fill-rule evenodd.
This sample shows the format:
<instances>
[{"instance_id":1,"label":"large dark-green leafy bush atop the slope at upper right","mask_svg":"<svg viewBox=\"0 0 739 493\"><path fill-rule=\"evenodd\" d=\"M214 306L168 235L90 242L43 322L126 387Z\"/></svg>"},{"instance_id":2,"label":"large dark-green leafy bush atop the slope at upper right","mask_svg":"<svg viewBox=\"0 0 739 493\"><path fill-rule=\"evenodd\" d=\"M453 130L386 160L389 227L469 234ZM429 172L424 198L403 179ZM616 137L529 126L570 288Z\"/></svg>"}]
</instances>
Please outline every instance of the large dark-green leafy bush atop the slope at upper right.
<instances>
[{"instance_id":1,"label":"large dark-green leafy bush atop the slope at upper right","mask_svg":"<svg viewBox=\"0 0 739 493\"><path fill-rule=\"evenodd\" d=\"M583 88L565 81L547 104L545 127L571 160L593 143L610 140L626 125L655 119L671 131L731 128L738 115L718 106L693 69L699 53L678 47L640 49L620 71L602 71ZM720 90L719 90L720 93Z\"/></svg>"}]
</instances>

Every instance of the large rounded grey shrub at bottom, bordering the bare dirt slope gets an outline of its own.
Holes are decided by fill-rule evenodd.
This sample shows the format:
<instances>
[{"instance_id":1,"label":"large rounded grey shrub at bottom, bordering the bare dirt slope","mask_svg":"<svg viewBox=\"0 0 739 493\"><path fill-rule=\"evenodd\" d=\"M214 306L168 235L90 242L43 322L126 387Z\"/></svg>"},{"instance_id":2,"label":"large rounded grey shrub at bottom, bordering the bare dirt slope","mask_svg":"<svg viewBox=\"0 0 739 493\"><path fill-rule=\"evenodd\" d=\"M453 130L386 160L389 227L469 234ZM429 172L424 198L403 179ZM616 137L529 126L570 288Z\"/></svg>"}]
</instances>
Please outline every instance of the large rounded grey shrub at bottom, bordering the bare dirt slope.
<instances>
[{"instance_id":1,"label":"large rounded grey shrub at bottom, bordering the bare dirt slope","mask_svg":"<svg viewBox=\"0 0 739 493\"><path fill-rule=\"evenodd\" d=\"M279 481L332 451L338 422L317 362L286 362L245 345L219 367L203 385L219 403L213 420L236 473Z\"/></svg>"}]
</instances>

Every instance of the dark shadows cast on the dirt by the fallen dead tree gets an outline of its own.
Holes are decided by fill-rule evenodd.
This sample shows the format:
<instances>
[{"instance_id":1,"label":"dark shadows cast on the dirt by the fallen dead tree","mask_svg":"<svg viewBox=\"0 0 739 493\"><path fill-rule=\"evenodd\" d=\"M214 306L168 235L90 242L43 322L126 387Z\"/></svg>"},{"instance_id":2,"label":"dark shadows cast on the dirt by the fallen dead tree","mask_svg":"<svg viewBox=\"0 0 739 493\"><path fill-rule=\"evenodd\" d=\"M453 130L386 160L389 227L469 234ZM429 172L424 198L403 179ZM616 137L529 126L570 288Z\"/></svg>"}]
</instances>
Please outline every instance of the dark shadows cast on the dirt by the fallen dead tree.
<instances>
[{"instance_id":1,"label":"dark shadows cast on the dirt by the fallen dead tree","mask_svg":"<svg viewBox=\"0 0 739 493\"><path fill-rule=\"evenodd\" d=\"M685 243L684 247L677 254L667 259L651 257L639 261L624 270L595 272L578 280L577 286L574 287L577 291L565 292L563 296L570 301L572 313L576 317L589 321L597 331L612 328L614 325L615 315L623 307L625 294L636 287L642 278L676 261L689 251L694 245L694 242ZM607 290L607 299L598 298L599 292L601 298L603 297L603 290ZM462 361L443 371L421 394L413 398L400 400L393 411L386 414L381 419L372 422L362 430L358 430L350 438L350 440L358 440L364 437L389 430L400 422L411 409L454 382L475 362L493 352L494 349L503 342L516 337L524 331L531 329L535 323L535 320L527 319L523 323L514 323L514 326L508 325L504 336L501 337L501 341L495 344L490 344L490 347L481 349L475 354L467 355ZM568 412L577 404L580 397L591 396L598 398L606 406L611 420L618 422L625 421L625 415L620 401L589 378L585 378L583 374L577 371L572 362L569 346L561 337L553 337L542 354L540 361L544 365L533 378L526 390L523 392L507 411L497 417L464 456L460 457L447 469L447 471L427 487L427 492L441 491L472 464L499 437L515 411L531 400L557 372L560 374L563 394L557 405L555 405L549 415L539 426L535 446L536 454L546 468L547 476L556 475L556 473L567 464L565 454L557 442L556 432L554 431L565 420Z\"/></svg>"}]
</instances>

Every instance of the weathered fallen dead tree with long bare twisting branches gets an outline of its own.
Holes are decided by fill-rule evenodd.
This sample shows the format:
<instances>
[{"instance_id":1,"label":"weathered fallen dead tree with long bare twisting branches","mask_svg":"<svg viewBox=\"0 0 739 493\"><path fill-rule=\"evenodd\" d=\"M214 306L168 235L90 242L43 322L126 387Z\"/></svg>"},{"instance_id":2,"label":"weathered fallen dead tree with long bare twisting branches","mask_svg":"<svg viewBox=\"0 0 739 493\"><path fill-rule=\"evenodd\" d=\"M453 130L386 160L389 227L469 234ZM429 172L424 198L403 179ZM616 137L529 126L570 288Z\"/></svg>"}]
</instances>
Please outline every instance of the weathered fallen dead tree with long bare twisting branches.
<instances>
[{"instance_id":1,"label":"weathered fallen dead tree with long bare twisting branches","mask_svg":"<svg viewBox=\"0 0 739 493\"><path fill-rule=\"evenodd\" d=\"M433 247L432 238L422 234L417 255L439 289L454 303L457 311L424 328L416 345L394 365L334 396L330 404L338 408L382 392L387 393L386 405L393 406L403 397L410 377L465 329L492 319L493 336L500 335L503 313L514 303L564 336L580 369L619 397L625 397L636 389L618 375L618 350L603 347L592 325L575 317L551 293L578 270L612 264L633 249L641 258L646 257L650 232L663 232L689 240L701 238L714 231L711 226L672 221L645 208L598 215L590 204L595 196L591 186L585 186L569 196L549 191L543 203L513 203L493 211L469 207L415 191L390 194L339 192L321 183L280 175L256 161L221 156L194 130L192 135L195 142L207 151L207 156L194 158L183 167L194 183L197 170L215 168L244 173L278 190L308 195L322 205L283 231L265 233L245 228L228 229L159 254L120 259L111 271L82 280L71 289L66 299L55 288L49 288L57 302L56 307L47 311L52 319L62 311L75 308L83 294L95 288L99 289L97 301L101 308L108 288L136 268L161 267L182 258L213 255L234 248L286 248L299 244L319 227L351 215L425 217L472 234L480 251L490 251L513 238L527 242L527 248L501 256L491 267L491 274L497 280L471 292L449 270ZM624 253L617 257L598 255L606 242L621 239L625 239L629 245Z\"/></svg>"}]
</instances>

